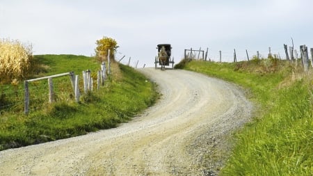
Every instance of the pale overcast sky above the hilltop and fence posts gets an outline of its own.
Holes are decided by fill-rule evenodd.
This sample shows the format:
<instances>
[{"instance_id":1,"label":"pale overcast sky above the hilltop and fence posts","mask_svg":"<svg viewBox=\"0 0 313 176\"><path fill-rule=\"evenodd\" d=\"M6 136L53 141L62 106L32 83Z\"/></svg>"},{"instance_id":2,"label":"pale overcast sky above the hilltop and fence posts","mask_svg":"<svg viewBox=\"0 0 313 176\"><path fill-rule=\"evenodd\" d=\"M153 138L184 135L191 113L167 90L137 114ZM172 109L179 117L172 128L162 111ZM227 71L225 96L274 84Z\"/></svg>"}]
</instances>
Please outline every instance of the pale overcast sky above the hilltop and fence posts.
<instances>
[{"instance_id":1,"label":"pale overcast sky above the hilltop and fence posts","mask_svg":"<svg viewBox=\"0 0 313 176\"><path fill-rule=\"evenodd\" d=\"M184 49L209 48L209 58L232 61L268 47L283 58L283 45L313 47L312 0L0 0L0 38L33 45L33 54L95 54L107 36L131 57L152 66L159 43L172 45L180 61Z\"/></svg>"}]
</instances>

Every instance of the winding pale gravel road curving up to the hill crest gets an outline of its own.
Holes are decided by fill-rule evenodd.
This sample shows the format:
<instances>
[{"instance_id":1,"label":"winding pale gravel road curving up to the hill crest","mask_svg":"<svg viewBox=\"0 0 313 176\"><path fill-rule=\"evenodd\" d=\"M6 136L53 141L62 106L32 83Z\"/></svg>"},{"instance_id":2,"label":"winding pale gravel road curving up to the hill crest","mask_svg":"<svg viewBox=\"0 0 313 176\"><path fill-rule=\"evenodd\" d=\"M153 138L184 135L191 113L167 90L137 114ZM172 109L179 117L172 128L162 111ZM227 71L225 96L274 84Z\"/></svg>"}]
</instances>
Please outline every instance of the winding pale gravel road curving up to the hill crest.
<instances>
[{"instance_id":1,"label":"winding pale gravel road curving up to the hill crest","mask_svg":"<svg viewBox=\"0 0 313 176\"><path fill-rule=\"evenodd\" d=\"M214 173L202 168L203 156L248 120L250 102L236 86L202 74L140 71L159 84L155 106L115 129L2 151L0 175Z\"/></svg>"}]
</instances>

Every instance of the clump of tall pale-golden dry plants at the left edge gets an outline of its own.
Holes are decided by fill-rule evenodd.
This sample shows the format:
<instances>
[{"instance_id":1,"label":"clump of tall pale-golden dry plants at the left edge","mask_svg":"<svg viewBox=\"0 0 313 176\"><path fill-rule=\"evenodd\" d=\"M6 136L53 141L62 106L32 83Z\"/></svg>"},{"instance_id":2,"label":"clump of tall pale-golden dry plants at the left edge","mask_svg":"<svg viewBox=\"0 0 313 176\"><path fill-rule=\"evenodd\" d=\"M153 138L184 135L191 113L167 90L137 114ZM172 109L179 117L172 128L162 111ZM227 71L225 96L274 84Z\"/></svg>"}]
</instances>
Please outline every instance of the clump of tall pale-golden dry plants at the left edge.
<instances>
[{"instance_id":1,"label":"clump of tall pale-golden dry plants at the left edge","mask_svg":"<svg viewBox=\"0 0 313 176\"><path fill-rule=\"evenodd\" d=\"M31 45L19 40L0 40L0 79L10 81L26 77L32 56Z\"/></svg>"}]
</instances>

